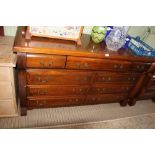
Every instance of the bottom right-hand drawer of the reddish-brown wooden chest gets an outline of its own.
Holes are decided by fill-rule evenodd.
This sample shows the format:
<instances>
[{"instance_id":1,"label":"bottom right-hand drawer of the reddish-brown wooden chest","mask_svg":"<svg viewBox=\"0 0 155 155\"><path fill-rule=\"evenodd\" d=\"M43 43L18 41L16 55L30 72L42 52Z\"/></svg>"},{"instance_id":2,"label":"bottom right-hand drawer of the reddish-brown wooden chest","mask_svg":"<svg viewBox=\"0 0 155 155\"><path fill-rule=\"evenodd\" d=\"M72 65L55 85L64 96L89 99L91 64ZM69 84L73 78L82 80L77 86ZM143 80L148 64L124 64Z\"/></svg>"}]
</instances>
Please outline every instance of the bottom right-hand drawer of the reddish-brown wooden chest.
<instances>
[{"instance_id":1,"label":"bottom right-hand drawer of the reddish-brown wooden chest","mask_svg":"<svg viewBox=\"0 0 155 155\"><path fill-rule=\"evenodd\" d=\"M110 103L119 102L124 100L127 94L103 94L103 95L88 95L86 99L87 104L97 104L97 103Z\"/></svg>"}]
</instances>

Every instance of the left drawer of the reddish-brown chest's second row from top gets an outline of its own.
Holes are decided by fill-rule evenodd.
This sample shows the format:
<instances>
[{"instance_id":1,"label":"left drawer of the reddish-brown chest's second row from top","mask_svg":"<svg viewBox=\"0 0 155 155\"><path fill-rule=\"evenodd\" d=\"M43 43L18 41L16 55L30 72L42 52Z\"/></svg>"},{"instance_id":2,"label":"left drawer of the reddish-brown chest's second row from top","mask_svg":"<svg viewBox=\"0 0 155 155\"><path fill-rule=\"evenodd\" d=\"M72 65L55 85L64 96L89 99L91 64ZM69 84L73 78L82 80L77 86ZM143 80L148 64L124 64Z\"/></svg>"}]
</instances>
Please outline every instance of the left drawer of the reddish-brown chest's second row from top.
<instances>
[{"instance_id":1,"label":"left drawer of the reddish-brown chest's second row from top","mask_svg":"<svg viewBox=\"0 0 155 155\"><path fill-rule=\"evenodd\" d=\"M28 84L89 84L93 72L72 71L72 70L27 70Z\"/></svg>"}]
</instances>

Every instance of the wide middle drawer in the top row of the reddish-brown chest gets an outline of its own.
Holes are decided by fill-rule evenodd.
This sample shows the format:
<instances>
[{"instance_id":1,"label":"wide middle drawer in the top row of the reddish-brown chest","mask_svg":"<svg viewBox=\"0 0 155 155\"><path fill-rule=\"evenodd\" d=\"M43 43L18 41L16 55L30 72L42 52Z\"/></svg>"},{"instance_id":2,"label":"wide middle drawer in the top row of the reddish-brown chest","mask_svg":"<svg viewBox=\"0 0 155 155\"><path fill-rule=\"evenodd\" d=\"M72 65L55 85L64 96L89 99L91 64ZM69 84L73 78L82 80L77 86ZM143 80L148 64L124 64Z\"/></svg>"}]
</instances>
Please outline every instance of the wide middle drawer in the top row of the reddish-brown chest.
<instances>
[{"instance_id":1,"label":"wide middle drawer in the top row of the reddish-brown chest","mask_svg":"<svg viewBox=\"0 0 155 155\"><path fill-rule=\"evenodd\" d=\"M130 69L130 62L115 61L95 58L67 57L66 68L69 69L92 69L107 71L126 71Z\"/></svg>"}]
</instances>

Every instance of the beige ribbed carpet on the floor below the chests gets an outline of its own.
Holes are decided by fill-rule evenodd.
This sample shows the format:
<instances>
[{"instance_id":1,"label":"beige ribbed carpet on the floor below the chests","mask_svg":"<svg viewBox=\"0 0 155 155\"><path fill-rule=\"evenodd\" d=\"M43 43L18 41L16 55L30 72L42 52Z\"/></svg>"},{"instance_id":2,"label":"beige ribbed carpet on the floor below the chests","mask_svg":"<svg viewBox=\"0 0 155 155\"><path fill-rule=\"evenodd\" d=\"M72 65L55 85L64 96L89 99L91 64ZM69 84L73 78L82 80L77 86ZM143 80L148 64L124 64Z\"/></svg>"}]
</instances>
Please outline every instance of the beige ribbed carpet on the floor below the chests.
<instances>
[{"instance_id":1,"label":"beige ribbed carpet on the floor below the chests","mask_svg":"<svg viewBox=\"0 0 155 155\"><path fill-rule=\"evenodd\" d=\"M155 104L133 107L100 104L29 110L27 116L0 118L0 128L155 128Z\"/></svg>"}]
</instances>

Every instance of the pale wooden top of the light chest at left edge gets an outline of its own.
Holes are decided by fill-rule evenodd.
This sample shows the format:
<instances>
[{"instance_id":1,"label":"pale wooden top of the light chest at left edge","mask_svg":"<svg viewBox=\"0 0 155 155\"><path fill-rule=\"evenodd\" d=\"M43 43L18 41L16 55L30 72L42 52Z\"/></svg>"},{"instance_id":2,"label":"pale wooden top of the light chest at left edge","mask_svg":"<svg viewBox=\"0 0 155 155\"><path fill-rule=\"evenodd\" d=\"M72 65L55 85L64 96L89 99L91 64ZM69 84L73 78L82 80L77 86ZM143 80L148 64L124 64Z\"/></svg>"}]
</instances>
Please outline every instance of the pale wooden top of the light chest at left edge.
<instances>
[{"instance_id":1,"label":"pale wooden top of the light chest at left edge","mask_svg":"<svg viewBox=\"0 0 155 155\"><path fill-rule=\"evenodd\" d=\"M13 53L14 37L0 37L0 66L16 65L16 55Z\"/></svg>"}]
</instances>

